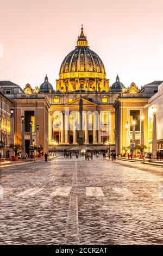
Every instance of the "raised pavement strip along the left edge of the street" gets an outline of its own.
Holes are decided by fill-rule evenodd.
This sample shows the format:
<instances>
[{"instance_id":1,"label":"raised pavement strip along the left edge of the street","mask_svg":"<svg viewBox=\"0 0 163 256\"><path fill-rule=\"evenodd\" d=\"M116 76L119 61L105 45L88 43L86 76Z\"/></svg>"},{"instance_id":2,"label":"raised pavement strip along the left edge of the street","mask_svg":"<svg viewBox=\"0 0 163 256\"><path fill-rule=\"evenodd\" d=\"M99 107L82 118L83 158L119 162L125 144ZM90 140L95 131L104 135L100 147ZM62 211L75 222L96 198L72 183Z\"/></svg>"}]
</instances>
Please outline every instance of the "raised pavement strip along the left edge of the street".
<instances>
[{"instance_id":1,"label":"raised pavement strip along the left edge of the street","mask_svg":"<svg viewBox=\"0 0 163 256\"><path fill-rule=\"evenodd\" d=\"M52 160L55 159L57 156L49 156L48 160ZM0 163L0 169L1 168L7 168L10 166L19 166L22 164L26 164L26 163L35 163L35 162L41 162L41 161L45 161L44 157L35 157L35 159L25 159L25 160L18 160L17 162L13 162L12 160L5 160L4 162Z\"/></svg>"}]
</instances>

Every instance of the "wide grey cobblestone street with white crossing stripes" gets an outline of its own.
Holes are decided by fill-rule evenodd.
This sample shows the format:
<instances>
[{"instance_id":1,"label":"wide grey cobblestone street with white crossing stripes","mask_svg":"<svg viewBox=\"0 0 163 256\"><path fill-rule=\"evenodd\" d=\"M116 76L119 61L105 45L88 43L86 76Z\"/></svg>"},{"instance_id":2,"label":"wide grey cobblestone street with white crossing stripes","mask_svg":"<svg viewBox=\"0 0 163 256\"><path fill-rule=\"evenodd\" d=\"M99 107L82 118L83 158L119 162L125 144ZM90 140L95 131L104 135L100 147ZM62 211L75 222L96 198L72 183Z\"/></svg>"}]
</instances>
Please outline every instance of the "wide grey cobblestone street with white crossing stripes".
<instances>
[{"instance_id":1,"label":"wide grey cobblestone street with white crossing stripes","mask_svg":"<svg viewBox=\"0 0 163 256\"><path fill-rule=\"evenodd\" d=\"M163 176L137 166L59 155L1 170L0 245L163 245Z\"/></svg>"}]
</instances>

